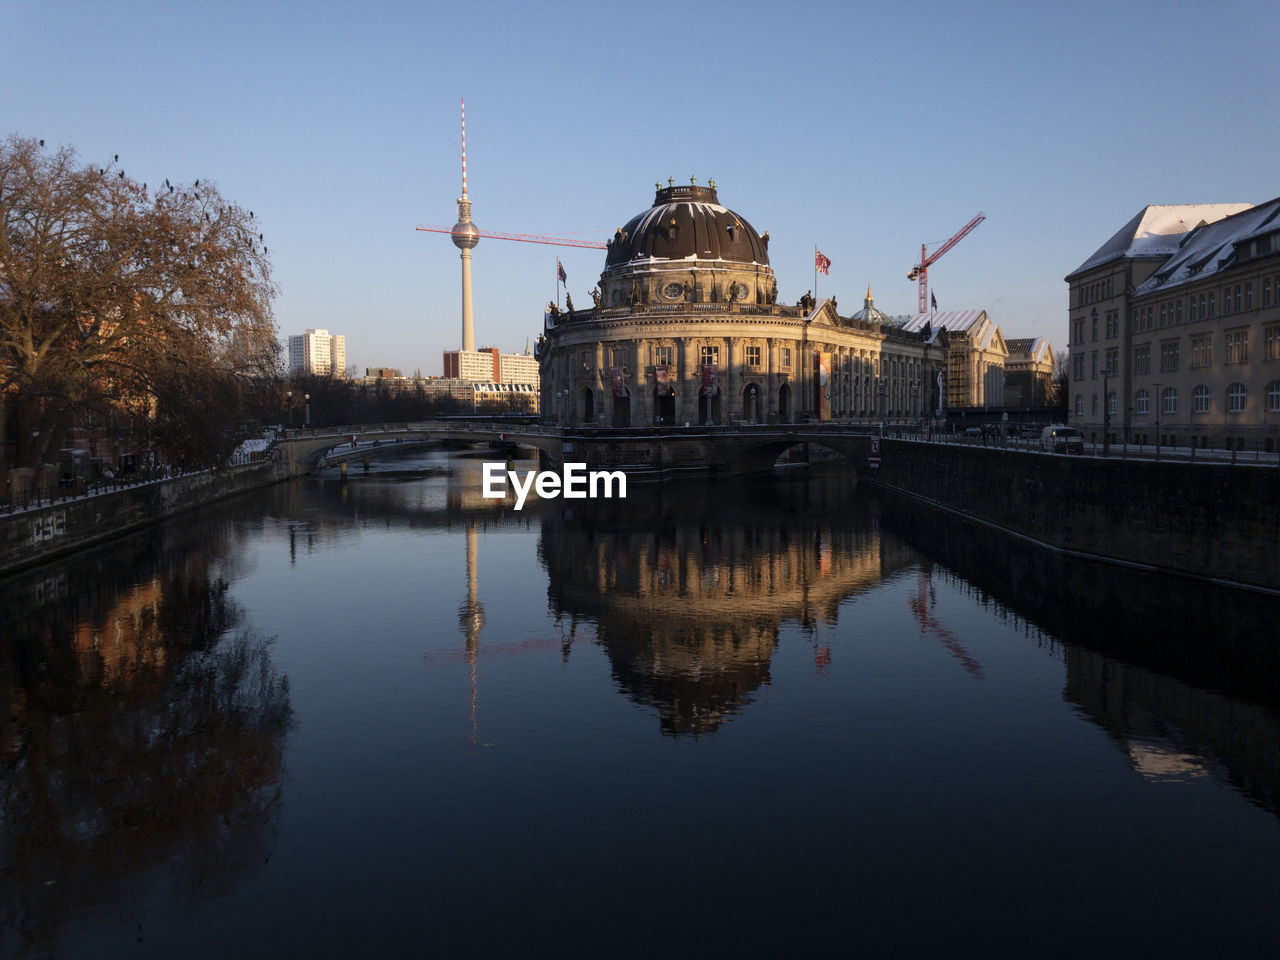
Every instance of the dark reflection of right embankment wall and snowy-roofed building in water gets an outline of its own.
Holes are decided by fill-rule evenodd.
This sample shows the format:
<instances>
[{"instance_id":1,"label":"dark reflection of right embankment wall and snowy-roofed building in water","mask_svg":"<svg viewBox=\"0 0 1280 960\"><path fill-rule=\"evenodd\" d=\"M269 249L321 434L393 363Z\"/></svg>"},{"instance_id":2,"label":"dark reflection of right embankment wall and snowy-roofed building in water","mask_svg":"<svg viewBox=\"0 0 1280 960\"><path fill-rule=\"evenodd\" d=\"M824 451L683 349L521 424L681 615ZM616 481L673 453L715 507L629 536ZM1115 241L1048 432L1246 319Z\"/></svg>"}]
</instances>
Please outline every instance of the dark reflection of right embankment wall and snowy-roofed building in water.
<instances>
[{"instance_id":1,"label":"dark reflection of right embankment wall and snowy-roofed building in water","mask_svg":"<svg viewBox=\"0 0 1280 960\"><path fill-rule=\"evenodd\" d=\"M1280 598L1073 559L881 498L996 616L1057 637L1064 698L1146 780L1213 776L1280 815Z\"/></svg>"}]
</instances>

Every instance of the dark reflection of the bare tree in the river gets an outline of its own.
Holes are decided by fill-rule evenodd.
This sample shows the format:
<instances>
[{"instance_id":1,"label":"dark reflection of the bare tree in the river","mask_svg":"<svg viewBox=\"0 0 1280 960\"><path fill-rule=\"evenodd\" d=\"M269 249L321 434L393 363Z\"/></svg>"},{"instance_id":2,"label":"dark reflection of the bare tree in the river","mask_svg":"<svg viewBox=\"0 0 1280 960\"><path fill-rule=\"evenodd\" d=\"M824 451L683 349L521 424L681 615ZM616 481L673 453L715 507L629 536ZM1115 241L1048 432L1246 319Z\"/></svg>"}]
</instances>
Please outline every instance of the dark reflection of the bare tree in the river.
<instances>
[{"instance_id":1,"label":"dark reflection of the bare tree in the river","mask_svg":"<svg viewBox=\"0 0 1280 960\"><path fill-rule=\"evenodd\" d=\"M52 590L54 611L41 584L6 584L17 589L0 611L14 625L0 654L5 956L56 951L86 906L125 922L161 874L193 901L270 858L288 681L269 640L232 634L227 585L195 556L133 584L114 564L79 595Z\"/></svg>"}]
</instances>

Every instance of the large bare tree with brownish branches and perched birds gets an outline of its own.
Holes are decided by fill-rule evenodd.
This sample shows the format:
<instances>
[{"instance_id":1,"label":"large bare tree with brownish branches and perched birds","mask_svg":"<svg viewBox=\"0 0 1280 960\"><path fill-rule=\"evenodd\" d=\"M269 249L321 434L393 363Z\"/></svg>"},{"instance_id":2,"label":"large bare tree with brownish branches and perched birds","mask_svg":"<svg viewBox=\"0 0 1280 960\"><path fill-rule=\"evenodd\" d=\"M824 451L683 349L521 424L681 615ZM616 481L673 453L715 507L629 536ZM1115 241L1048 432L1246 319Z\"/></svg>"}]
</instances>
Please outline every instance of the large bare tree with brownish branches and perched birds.
<instances>
[{"instance_id":1,"label":"large bare tree with brownish branches and perched birds","mask_svg":"<svg viewBox=\"0 0 1280 960\"><path fill-rule=\"evenodd\" d=\"M148 187L115 160L0 142L0 392L15 462L109 424L191 463L234 447L274 376L270 261L255 215L216 186Z\"/></svg>"}]
</instances>

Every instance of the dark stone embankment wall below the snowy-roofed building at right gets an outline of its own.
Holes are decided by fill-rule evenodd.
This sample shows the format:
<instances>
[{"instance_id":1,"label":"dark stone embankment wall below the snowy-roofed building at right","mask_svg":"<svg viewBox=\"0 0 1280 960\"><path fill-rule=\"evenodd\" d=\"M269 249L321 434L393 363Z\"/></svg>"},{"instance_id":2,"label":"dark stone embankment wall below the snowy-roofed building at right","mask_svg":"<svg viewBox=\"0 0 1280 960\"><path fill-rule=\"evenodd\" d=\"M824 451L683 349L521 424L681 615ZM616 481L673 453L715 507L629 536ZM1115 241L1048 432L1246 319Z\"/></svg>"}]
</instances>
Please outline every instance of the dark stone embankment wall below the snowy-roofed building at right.
<instances>
[{"instance_id":1,"label":"dark stone embankment wall below the snowy-roofed building at right","mask_svg":"<svg viewBox=\"0 0 1280 960\"><path fill-rule=\"evenodd\" d=\"M1280 590L1280 470L882 440L870 480L1066 550Z\"/></svg>"}]
</instances>

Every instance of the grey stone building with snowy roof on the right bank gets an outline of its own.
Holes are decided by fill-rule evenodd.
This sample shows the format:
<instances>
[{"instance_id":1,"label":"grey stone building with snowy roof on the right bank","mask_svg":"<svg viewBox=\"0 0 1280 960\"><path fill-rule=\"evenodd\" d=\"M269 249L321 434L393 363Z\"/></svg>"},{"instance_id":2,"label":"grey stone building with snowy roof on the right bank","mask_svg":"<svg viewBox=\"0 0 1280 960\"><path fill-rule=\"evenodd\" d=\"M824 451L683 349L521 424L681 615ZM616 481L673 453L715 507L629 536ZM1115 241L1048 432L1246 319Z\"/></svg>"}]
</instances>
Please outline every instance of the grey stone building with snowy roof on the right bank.
<instances>
[{"instance_id":1,"label":"grey stone building with snowy roof on the right bank","mask_svg":"<svg viewBox=\"0 0 1280 960\"><path fill-rule=\"evenodd\" d=\"M1144 207L1066 282L1085 436L1276 448L1280 198Z\"/></svg>"}]
</instances>

